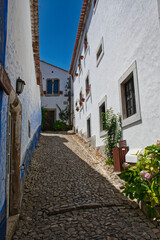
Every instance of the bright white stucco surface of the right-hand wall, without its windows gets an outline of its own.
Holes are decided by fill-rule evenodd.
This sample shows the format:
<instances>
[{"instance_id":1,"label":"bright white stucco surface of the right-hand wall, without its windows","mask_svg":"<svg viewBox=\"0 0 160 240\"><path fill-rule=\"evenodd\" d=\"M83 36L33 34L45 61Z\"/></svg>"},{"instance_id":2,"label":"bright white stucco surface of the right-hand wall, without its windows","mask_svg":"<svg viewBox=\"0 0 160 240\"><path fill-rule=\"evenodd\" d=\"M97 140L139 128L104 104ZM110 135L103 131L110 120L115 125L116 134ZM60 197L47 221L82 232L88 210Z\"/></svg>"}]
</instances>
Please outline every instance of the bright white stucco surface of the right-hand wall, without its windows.
<instances>
[{"instance_id":1,"label":"bright white stucco surface of the right-hand wall, without its windows","mask_svg":"<svg viewBox=\"0 0 160 240\"><path fill-rule=\"evenodd\" d=\"M107 95L107 108L112 107L115 113L120 113L118 80L136 61L141 121L123 128L123 139L127 140L130 148L154 144L160 139L160 25L157 0L99 0L96 10L92 6L85 30L89 47L84 54L82 43L79 55L85 58L82 60L82 72L74 80L74 99L76 101L80 89L85 93L88 74L91 97L82 111L75 111L75 127L85 134L86 119L91 114L91 133L96 136L96 146L104 144L100 137L98 103ZM96 53L102 37L104 55L97 67Z\"/></svg>"}]
</instances>

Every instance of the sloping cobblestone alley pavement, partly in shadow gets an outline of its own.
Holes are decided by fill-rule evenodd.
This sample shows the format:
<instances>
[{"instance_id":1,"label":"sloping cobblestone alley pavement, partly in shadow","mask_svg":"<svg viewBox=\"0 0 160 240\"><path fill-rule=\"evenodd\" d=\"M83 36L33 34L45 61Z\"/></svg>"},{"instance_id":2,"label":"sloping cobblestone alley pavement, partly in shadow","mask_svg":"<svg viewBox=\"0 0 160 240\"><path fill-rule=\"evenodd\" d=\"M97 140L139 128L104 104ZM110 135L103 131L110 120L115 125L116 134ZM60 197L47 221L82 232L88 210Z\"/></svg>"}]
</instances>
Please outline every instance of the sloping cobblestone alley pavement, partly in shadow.
<instances>
[{"instance_id":1,"label":"sloping cobblestone alley pavement, partly in shadow","mask_svg":"<svg viewBox=\"0 0 160 240\"><path fill-rule=\"evenodd\" d=\"M105 159L75 135L43 133L26 178L16 240L160 239L119 191Z\"/></svg>"}]
</instances>

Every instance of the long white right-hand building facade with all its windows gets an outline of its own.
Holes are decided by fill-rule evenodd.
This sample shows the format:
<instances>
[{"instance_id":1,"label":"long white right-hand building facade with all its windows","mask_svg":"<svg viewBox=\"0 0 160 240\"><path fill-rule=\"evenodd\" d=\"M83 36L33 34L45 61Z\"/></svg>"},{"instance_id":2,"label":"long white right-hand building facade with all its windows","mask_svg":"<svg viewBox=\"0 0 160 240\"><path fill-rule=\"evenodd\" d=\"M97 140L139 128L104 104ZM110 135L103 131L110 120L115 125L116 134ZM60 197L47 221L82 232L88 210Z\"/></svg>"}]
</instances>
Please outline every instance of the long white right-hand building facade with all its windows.
<instances>
[{"instance_id":1,"label":"long white right-hand building facade with all its windows","mask_svg":"<svg viewBox=\"0 0 160 240\"><path fill-rule=\"evenodd\" d=\"M70 67L75 130L103 151L102 112L122 116L131 148L160 139L157 0L84 0Z\"/></svg>"}]
</instances>

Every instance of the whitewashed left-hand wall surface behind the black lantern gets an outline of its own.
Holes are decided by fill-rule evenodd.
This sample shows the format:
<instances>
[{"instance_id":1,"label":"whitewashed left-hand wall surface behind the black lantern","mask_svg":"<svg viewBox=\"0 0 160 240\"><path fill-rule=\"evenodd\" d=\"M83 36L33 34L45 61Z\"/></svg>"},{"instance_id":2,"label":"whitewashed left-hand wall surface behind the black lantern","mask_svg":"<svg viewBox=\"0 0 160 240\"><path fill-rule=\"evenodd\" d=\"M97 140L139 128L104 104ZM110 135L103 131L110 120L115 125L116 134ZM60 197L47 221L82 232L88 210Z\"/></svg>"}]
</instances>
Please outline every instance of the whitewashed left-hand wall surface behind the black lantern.
<instances>
[{"instance_id":1,"label":"whitewashed left-hand wall surface behind the black lantern","mask_svg":"<svg viewBox=\"0 0 160 240\"><path fill-rule=\"evenodd\" d=\"M16 90L16 79L26 83L19 95L22 103L21 156L41 125L40 88L37 85L33 59L30 0L8 0L6 71ZM31 122L31 138L28 137L28 120Z\"/></svg>"}]
</instances>

